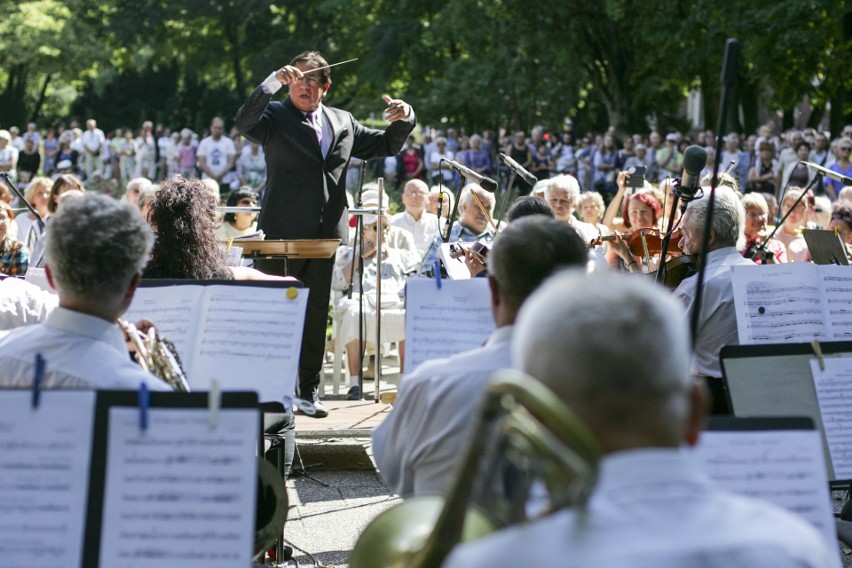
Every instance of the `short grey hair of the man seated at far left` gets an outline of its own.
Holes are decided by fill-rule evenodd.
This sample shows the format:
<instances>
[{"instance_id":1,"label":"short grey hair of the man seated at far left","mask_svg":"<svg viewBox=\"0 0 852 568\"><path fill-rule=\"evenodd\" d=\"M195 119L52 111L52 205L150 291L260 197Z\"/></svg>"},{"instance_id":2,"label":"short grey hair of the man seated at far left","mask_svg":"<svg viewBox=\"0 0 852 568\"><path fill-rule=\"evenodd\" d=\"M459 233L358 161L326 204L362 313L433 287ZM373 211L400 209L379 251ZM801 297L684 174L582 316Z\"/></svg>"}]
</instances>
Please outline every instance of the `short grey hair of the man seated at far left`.
<instances>
[{"instance_id":1,"label":"short grey hair of the man seated at far left","mask_svg":"<svg viewBox=\"0 0 852 568\"><path fill-rule=\"evenodd\" d=\"M62 202L46 236L45 260L60 296L122 297L154 246L133 205L87 193Z\"/></svg>"}]
</instances>

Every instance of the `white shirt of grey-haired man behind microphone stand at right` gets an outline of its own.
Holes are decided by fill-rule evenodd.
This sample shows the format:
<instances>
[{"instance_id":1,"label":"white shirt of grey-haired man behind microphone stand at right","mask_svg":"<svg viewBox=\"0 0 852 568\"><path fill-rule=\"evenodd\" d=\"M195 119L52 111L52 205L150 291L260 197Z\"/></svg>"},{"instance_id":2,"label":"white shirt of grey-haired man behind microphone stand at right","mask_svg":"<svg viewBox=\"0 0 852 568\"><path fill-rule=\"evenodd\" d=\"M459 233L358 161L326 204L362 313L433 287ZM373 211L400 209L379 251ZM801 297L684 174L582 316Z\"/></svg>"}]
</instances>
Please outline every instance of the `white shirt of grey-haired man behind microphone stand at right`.
<instances>
[{"instance_id":1,"label":"white shirt of grey-haired man behind microphone stand at right","mask_svg":"<svg viewBox=\"0 0 852 568\"><path fill-rule=\"evenodd\" d=\"M738 345L737 313L734 306L734 287L731 284L732 266L754 266L754 262L743 256L734 247L724 247L707 254L704 269L704 296L701 298L701 315L695 337L695 354L692 357L692 373L706 377L722 377L719 352L725 345ZM698 275L680 283L674 291L692 314L695 304L695 287Z\"/></svg>"}]
</instances>

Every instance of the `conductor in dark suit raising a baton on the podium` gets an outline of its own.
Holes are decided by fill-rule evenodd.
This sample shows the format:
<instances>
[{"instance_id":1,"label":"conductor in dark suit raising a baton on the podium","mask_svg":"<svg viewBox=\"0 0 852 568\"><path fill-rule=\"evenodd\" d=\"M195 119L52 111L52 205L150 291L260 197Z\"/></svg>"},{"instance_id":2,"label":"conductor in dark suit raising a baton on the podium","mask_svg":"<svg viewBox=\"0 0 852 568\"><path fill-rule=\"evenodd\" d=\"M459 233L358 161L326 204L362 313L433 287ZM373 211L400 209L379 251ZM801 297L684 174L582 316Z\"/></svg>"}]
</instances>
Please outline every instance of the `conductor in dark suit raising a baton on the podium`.
<instances>
[{"instance_id":1,"label":"conductor in dark suit raising a baton on the podium","mask_svg":"<svg viewBox=\"0 0 852 568\"><path fill-rule=\"evenodd\" d=\"M284 102L272 96L286 85ZM384 130L362 126L348 112L328 107L331 87L325 58L306 51L274 71L237 112L237 129L263 145L267 186L258 228L268 239L348 239L346 169L352 157L368 160L399 153L415 125L404 101L385 95ZM299 360L299 392L312 400L314 415L328 412L319 402L319 373L325 351L334 259L265 260L258 268L294 276L310 289Z\"/></svg>"}]
</instances>

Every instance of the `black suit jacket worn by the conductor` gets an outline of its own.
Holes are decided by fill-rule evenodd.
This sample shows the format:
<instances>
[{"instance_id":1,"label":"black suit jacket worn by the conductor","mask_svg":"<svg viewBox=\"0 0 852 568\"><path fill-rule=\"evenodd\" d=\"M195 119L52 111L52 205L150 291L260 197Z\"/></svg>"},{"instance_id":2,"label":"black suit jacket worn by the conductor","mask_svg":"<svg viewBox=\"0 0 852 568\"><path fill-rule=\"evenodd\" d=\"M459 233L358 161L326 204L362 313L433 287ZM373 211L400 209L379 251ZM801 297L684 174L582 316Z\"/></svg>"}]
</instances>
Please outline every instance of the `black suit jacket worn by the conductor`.
<instances>
[{"instance_id":1,"label":"black suit jacket worn by the conductor","mask_svg":"<svg viewBox=\"0 0 852 568\"><path fill-rule=\"evenodd\" d=\"M386 130L366 128L348 112L323 106L333 133L323 159L316 131L287 98L255 89L237 113L237 129L263 145L267 183L258 228L269 239L348 240L346 169L352 156L369 160L396 154L414 129L410 121Z\"/></svg>"}]
</instances>

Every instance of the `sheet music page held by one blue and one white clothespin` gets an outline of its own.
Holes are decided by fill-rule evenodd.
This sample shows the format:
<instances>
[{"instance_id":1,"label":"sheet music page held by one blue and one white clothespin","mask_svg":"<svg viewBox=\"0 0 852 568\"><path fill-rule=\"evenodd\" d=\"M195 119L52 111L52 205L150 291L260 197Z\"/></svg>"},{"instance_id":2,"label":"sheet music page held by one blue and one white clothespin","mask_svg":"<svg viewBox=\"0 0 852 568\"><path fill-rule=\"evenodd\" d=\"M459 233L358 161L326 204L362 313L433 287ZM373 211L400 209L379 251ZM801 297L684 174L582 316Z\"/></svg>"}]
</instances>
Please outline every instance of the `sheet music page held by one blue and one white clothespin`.
<instances>
[{"instance_id":1,"label":"sheet music page held by one blue and one white clothespin","mask_svg":"<svg viewBox=\"0 0 852 568\"><path fill-rule=\"evenodd\" d=\"M257 410L110 408L100 566L249 566Z\"/></svg>"}]
</instances>

